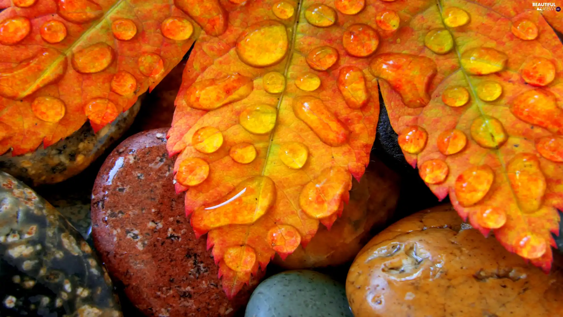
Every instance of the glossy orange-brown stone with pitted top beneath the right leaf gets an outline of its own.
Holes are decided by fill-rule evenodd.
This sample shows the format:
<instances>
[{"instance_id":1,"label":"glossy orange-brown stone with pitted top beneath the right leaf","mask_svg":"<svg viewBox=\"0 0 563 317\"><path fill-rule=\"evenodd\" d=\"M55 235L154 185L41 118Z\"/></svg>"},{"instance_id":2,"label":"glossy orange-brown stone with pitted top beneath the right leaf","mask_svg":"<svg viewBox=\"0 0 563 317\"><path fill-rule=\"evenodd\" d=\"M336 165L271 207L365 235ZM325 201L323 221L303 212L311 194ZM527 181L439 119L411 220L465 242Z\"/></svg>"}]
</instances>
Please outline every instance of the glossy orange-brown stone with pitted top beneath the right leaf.
<instances>
[{"instance_id":1,"label":"glossy orange-brown stone with pitted top beneath the right leaf","mask_svg":"<svg viewBox=\"0 0 563 317\"><path fill-rule=\"evenodd\" d=\"M356 317L562 316L560 264L544 274L441 205L365 245L348 271L346 295Z\"/></svg>"}]
</instances>

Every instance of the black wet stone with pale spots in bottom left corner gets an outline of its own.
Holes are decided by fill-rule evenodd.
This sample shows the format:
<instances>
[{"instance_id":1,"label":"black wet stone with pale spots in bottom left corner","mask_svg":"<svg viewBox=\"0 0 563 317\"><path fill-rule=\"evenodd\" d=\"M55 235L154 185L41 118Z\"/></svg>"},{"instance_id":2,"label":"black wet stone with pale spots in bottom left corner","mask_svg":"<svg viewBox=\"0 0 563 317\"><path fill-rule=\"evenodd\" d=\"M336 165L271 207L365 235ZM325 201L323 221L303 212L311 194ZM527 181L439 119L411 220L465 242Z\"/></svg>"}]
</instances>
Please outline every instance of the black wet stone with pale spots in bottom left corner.
<instances>
[{"instance_id":1,"label":"black wet stone with pale spots in bottom left corner","mask_svg":"<svg viewBox=\"0 0 563 317\"><path fill-rule=\"evenodd\" d=\"M62 215L0 172L0 316L119 317L105 268Z\"/></svg>"}]
</instances>

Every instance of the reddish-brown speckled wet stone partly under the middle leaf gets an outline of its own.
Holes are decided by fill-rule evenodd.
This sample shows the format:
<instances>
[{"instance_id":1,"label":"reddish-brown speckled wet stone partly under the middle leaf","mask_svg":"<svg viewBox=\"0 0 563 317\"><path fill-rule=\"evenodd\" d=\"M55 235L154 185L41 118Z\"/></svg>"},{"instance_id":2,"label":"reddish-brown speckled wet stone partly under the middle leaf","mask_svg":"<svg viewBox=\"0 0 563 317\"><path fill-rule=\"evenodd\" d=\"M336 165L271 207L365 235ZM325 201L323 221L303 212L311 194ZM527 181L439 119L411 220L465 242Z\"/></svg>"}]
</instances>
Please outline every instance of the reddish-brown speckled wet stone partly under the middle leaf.
<instances>
[{"instance_id":1,"label":"reddish-brown speckled wet stone partly under the middle leaf","mask_svg":"<svg viewBox=\"0 0 563 317\"><path fill-rule=\"evenodd\" d=\"M172 183L167 129L138 133L108 156L92 191L92 237L110 275L149 316L231 316L253 287L227 300L205 237L196 239ZM119 282L118 282L119 281Z\"/></svg>"}]
</instances>

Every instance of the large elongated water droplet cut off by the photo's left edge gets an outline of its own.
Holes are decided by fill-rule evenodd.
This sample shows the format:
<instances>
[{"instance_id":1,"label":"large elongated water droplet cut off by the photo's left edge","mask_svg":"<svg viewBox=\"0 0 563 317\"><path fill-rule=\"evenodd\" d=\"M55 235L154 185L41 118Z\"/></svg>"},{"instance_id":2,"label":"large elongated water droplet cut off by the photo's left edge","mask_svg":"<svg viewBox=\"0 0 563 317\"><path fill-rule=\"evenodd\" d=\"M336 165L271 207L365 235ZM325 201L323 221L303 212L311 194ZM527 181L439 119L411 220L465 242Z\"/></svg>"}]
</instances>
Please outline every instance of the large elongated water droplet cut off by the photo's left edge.
<instances>
[{"instance_id":1,"label":"large elongated water droplet cut off by the photo's left edge","mask_svg":"<svg viewBox=\"0 0 563 317\"><path fill-rule=\"evenodd\" d=\"M0 71L0 95L21 99L52 82L66 72L66 55L44 47L32 59L24 60L13 68Z\"/></svg>"}]
</instances>

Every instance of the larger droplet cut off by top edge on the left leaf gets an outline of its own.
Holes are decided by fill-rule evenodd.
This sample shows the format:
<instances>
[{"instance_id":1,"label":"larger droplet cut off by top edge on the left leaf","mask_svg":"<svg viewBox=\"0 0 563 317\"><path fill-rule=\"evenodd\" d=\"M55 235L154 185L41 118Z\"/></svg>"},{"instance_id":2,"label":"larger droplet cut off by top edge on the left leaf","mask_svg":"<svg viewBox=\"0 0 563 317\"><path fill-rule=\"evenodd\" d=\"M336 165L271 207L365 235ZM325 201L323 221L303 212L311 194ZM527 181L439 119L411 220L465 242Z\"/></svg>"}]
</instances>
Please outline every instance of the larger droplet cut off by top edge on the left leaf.
<instances>
[{"instance_id":1,"label":"larger droplet cut off by top edge on the left leaf","mask_svg":"<svg viewBox=\"0 0 563 317\"><path fill-rule=\"evenodd\" d=\"M88 23L104 15L102 7L90 0L59 0L57 14L72 23Z\"/></svg>"}]
</instances>

